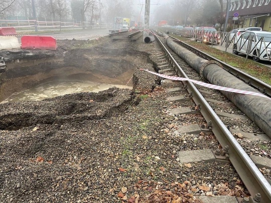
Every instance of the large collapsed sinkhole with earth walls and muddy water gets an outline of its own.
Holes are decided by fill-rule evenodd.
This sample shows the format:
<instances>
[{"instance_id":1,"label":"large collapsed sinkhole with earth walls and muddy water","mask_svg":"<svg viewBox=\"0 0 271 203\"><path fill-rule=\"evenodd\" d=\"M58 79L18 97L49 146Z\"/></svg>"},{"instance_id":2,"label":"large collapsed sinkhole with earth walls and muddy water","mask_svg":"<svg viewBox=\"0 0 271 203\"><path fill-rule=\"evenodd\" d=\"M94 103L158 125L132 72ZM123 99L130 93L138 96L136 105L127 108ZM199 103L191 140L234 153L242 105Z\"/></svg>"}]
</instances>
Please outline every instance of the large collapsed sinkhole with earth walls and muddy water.
<instances>
[{"instance_id":1,"label":"large collapsed sinkhole with earth walls and muddy water","mask_svg":"<svg viewBox=\"0 0 271 203\"><path fill-rule=\"evenodd\" d=\"M42 100L110 87L132 88L132 76L148 54L93 47L52 51L9 51L0 73L0 103Z\"/></svg>"}]
</instances>

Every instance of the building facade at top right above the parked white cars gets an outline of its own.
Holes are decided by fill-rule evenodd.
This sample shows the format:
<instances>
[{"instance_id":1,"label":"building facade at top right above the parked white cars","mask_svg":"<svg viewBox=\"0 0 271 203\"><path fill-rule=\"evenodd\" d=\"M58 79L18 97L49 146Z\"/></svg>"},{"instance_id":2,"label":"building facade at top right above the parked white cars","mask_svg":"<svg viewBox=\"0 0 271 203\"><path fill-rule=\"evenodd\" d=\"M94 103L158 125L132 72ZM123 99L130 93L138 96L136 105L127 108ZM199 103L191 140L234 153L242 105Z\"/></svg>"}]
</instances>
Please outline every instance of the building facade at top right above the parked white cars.
<instances>
[{"instance_id":1,"label":"building facade at top right above the parked white cars","mask_svg":"<svg viewBox=\"0 0 271 203\"><path fill-rule=\"evenodd\" d=\"M271 0L231 1L229 18L242 19L242 28L261 27L271 32Z\"/></svg>"}]
</instances>

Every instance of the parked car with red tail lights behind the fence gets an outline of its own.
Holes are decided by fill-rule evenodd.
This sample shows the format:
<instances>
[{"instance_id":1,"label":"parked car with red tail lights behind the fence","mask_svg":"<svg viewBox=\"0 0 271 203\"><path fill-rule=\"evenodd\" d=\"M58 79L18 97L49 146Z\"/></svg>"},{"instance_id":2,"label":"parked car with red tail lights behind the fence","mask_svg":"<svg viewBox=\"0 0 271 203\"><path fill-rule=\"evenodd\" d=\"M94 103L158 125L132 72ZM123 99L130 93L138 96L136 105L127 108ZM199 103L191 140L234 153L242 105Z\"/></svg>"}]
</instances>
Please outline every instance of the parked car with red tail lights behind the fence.
<instances>
[{"instance_id":1,"label":"parked car with red tail lights behind the fence","mask_svg":"<svg viewBox=\"0 0 271 203\"><path fill-rule=\"evenodd\" d=\"M220 43L220 35L213 27L200 27L197 32L197 38L195 41L200 40L203 43Z\"/></svg>"}]
</instances>

